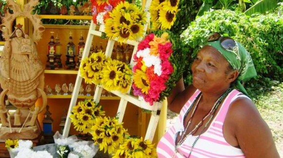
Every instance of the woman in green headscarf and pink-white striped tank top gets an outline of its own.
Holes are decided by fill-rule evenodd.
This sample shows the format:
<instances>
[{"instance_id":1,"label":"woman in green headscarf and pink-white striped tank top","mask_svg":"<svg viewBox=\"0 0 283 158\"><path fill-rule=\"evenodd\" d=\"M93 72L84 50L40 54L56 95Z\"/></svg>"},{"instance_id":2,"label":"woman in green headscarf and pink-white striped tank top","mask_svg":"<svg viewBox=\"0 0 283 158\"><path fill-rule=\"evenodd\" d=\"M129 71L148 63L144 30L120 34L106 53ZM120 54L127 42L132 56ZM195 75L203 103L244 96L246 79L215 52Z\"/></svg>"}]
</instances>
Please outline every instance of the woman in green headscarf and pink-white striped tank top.
<instances>
[{"instance_id":1,"label":"woman in green headscarf and pink-white striped tank top","mask_svg":"<svg viewBox=\"0 0 283 158\"><path fill-rule=\"evenodd\" d=\"M249 53L214 33L192 64L193 84L182 80L168 97L180 113L157 146L159 158L279 158L272 134L240 81L256 76Z\"/></svg>"}]
</instances>

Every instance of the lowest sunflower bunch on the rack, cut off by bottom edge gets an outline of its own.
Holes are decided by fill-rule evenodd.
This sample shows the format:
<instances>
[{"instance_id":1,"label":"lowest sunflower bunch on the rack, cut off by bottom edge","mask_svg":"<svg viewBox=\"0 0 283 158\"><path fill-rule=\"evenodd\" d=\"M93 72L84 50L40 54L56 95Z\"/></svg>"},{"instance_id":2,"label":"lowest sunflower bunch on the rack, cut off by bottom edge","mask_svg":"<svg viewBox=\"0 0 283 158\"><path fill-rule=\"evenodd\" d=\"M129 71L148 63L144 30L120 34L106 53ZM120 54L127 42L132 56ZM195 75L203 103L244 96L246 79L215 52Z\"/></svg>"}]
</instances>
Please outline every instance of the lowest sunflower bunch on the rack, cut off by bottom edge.
<instances>
[{"instance_id":1,"label":"lowest sunflower bunch on the rack, cut off by bottom edge","mask_svg":"<svg viewBox=\"0 0 283 158\"><path fill-rule=\"evenodd\" d=\"M130 137L124 140L113 158L157 158L157 154L150 140Z\"/></svg>"}]
</instances>

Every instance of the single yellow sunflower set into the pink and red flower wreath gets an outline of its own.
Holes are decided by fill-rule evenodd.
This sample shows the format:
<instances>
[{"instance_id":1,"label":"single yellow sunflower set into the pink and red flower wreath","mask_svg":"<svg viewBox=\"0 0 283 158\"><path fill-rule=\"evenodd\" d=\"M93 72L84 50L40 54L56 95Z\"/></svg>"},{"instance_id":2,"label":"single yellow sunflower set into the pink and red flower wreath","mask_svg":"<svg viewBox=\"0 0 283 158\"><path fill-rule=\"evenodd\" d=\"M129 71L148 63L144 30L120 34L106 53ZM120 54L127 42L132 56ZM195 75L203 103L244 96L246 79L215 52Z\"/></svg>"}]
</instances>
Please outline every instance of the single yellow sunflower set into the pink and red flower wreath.
<instances>
[{"instance_id":1,"label":"single yellow sunflower set into the pink and red flower wreath","mask_svg":"<svg viewBox=\"0 0 283 158\"><path fill-rule=\"evenodd\" d=\"M150 81L148 80L145 72L142 70L136 70L134 73L133 82L137 88L142 90L142 93L148 94L148 90L150 88Z\"/></svg>"}]
</instances>

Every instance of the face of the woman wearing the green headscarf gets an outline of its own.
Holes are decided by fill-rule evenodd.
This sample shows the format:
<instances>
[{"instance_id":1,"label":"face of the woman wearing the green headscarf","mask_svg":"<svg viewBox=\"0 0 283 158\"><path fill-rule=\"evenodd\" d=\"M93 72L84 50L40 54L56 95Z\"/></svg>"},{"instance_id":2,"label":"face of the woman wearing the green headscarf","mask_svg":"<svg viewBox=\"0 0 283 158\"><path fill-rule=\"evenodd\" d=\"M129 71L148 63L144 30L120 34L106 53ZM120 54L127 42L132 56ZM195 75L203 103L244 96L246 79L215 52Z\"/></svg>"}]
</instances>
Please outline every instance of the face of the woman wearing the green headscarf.
<instances>
[{"instance_id":1,"label":"face of the woman wearing the green headscarf","mask_svg":"<svg viewBox=\"0 0 283 158\"><path fill-rule=\"evenodd\" d=\"M228 61L211 46L204 46L193 64L193 85L201 91L215 91L229 85L226 82Z\"/></svg>"}]
</instances>

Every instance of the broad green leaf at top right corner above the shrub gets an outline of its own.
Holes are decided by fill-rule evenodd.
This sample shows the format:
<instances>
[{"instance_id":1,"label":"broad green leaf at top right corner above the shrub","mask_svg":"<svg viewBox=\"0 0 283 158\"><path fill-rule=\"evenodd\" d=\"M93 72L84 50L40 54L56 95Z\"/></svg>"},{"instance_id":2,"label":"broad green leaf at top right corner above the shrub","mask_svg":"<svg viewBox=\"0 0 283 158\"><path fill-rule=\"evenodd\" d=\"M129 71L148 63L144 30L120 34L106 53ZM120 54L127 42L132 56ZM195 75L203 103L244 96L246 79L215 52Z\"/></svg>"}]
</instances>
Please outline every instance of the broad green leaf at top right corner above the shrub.
<instances>
[{"instance_id":1,"label":"broad green leaf at top right corner above the shrub","mask_svg":"<svg viewBox=\"0 0 283 158\"><path fill-rule=\"evenodd\" d=\"M254 13L265 13L278 6L278 0L259 0L244 13L248 16Z\"/></svg>"}]
</instances>

